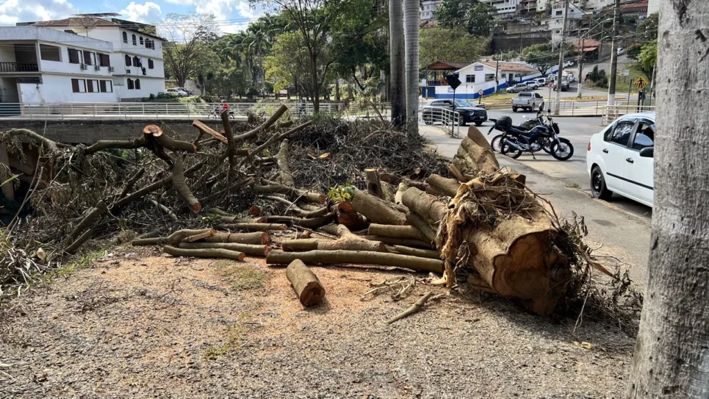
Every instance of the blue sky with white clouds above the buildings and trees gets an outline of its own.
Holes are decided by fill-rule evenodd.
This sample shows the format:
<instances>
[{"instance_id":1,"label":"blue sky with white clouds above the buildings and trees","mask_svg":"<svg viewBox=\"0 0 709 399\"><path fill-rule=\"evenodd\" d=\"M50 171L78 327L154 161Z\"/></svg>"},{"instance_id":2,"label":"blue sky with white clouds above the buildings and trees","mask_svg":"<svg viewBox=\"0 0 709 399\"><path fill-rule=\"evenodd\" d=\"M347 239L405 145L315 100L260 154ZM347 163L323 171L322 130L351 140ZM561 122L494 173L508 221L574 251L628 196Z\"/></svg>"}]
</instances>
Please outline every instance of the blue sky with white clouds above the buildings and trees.
<instances>
[{"instance_id":1,"label":"blue sky with white clouds above the buildings and trees","mask_svg":"<svg viewBox=\"0 0 709 399\"><path fill-rule=\"evenodd\" d=\"M67 18L77 13L119 13L118 18L153 24L159 24L169 13L212 14L220 31L235 33L244 30L263 11L248 0L0 0L0 26Z\"/></svg>"}]
</instances>

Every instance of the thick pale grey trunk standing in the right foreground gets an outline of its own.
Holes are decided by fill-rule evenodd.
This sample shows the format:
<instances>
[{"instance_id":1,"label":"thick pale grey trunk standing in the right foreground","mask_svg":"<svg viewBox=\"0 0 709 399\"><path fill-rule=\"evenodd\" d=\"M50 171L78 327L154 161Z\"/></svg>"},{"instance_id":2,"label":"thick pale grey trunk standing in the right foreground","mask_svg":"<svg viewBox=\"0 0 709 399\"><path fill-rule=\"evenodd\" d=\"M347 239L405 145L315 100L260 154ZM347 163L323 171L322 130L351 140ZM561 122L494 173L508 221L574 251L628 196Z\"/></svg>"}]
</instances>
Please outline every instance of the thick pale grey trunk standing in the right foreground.
<instances>
[{"instance_id":1,"label":"thick pale grey trunk standing in the right foreground","mask_svg":"<svg viewBox=\"0 0 709 399\"><path fill-rule=\"evenodd\" d=\"M709 1L681 3L660 2L654 210L632 399L709 398L709 113L700 105Z\"/></svg>"}]
</instances>

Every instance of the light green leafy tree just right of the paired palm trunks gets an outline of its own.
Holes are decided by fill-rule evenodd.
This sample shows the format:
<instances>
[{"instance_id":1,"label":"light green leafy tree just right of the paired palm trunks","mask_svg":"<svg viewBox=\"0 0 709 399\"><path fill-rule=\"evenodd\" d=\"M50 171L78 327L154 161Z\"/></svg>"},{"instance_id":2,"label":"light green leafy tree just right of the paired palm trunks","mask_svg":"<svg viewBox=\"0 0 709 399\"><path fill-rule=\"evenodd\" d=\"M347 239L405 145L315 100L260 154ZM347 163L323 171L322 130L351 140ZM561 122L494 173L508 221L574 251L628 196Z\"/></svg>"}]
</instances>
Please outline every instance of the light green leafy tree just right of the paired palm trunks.
<instances>
[{"instance_id":1,"label":"light green leafy tree just right of the paired palm trunks","mask_svg":"<svg viewBox=\"0 0 709 399\"><path fill-rule=\"evenodd\" d=\"M421 29L421 67L436 61L475 62L485 53L489 38L471 36L462 27Z\"/></svg>"}]
</instances>

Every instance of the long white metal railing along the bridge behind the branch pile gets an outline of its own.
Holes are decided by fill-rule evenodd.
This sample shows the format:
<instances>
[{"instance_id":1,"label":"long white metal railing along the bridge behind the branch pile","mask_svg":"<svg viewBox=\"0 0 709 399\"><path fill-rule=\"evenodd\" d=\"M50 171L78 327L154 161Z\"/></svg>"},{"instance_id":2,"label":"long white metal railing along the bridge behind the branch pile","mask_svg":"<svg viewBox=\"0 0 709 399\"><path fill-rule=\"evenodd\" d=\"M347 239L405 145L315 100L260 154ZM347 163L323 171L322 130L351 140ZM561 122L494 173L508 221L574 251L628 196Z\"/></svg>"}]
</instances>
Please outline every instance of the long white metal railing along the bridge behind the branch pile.
<instances>
[{"instance_id":1,"label":"long white metal railing along the bridge behind the branch pile","mask_svg":"<svg viewBox=\"0 0 709 399\"><path fill-rule=\"evenodd\" d=\"M234 116L247 118L248 115L269 116L281 103L229 103L229 111ZM287 104L294 116L313 114L313 104ZM1 103L0 118L6 119L218 119L223 103L183 103L183 102L65 102L65 103ZM377 104L377 110L386 114L389 104ZM213 111L218 109L215 114ZM352 114L352 116L376 116L371 106L362 104L323 103L320 112L325 114Z\"/></svg>"}]
</instances>

